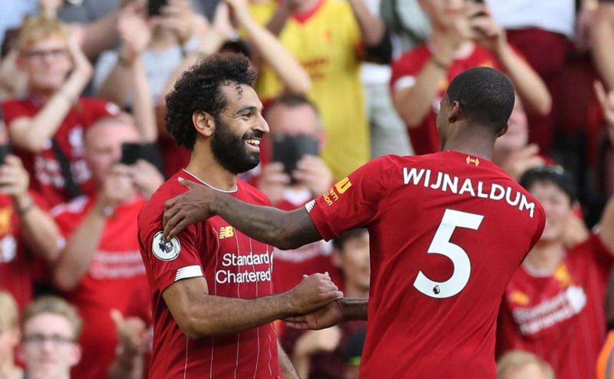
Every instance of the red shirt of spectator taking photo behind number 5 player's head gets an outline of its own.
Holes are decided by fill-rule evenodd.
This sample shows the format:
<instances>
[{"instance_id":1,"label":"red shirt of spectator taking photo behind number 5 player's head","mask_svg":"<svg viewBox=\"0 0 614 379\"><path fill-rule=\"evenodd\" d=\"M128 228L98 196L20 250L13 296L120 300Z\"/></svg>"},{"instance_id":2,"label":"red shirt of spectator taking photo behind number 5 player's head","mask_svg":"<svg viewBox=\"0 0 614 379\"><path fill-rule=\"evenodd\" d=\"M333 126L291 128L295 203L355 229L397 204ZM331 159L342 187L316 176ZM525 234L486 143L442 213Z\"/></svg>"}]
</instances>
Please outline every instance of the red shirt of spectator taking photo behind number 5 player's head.
<instances>
[{"instance_id":1,"label":"red shirt of spectator taking photo behind number 5 player's head","mask_svg":"<svg viewBox=\"0 0 614 379\"><path fill-rule=\"evenodd\" d=\"M475 67L486 66L497 68L498 64L491 52L478 44L462 55L456 55L448 69L448 76L441 80L439 93L433 99L432 109L426 116L422 124L417 128L408 128L411 144L416 154L431 154L439 151L439 135L437 133L437 113L439 112L439 102L443 98L448 85L461 72ZM429 45L422 44L415 49L406 52L392 63L392 92L403 88L412 87L416 82L416 76L422 71L424 65L430 60L432 52Z\"/></svg>"}]
</instances>

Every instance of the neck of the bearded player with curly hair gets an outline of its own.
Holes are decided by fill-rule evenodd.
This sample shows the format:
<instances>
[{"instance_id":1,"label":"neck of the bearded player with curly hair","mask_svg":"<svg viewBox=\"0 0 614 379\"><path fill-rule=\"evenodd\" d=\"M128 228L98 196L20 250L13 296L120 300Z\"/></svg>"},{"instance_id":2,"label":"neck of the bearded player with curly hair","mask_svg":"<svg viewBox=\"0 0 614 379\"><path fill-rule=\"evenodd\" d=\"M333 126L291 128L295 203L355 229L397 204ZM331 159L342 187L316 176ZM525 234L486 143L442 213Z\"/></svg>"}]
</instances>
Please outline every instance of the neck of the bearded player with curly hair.
<instances>
[{"instance_id":1,"label":"neck of the bearded player with curly hair","mask_svg":"<svg viewBox=\"0 0 614 379\"><path fill-rule=\"evenodd\" d=\"M211 149L195 146L190 163L185 167L185 170L216 189L224 191L236 189L236 174L231 173L217 163L213 158Z\"/></svg>"}]
</instances>

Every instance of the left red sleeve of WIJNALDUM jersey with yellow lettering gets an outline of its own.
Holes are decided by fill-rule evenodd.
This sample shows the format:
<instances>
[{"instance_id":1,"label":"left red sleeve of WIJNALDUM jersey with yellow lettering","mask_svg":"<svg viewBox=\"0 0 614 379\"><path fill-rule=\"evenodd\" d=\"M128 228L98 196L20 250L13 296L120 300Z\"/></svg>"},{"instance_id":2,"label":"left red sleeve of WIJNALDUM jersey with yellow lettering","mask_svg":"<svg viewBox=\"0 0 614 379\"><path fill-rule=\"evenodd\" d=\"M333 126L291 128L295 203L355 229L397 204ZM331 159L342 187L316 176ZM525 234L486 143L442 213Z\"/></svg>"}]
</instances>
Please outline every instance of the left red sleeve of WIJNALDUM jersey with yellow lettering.
<instances>
[{"instance_id":1,"label":"left red sleeve of WIJNALDUM jersey with yellow lettering","mask_svg":"<svg viewBox=\"0 0 614 379\"><path fill-rule=\"evenodd\" d=\"M341 179L327 192L305 205L311 221L324 240L345 230L366 227L381 211L389 158L373 160Z\"/></svg>"}]
</instances>

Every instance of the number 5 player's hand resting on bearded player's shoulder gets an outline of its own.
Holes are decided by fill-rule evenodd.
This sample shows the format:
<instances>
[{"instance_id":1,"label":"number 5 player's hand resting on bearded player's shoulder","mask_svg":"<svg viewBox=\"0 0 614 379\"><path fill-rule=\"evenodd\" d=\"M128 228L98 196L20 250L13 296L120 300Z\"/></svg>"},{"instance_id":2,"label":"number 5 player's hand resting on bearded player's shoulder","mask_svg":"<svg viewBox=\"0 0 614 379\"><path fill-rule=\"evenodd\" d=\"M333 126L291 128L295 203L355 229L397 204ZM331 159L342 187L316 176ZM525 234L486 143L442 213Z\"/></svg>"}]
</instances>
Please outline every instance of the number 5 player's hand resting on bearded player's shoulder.
<instances>
[{"instance_id":1,"label":"number 5 player's hand resting on bearded player's shoulder","mask_svg":"<svg viewBox=\"0 0 614 379\"><path fill-rule=\"evenodd\" d=\"M189 190L167 200L164 205L162 225L166 240L176 236L188 225L196 224L212 216L211 203L216 198L216 191L182 178L179 178L179 182Z\"/></svg>"}]
</instances>

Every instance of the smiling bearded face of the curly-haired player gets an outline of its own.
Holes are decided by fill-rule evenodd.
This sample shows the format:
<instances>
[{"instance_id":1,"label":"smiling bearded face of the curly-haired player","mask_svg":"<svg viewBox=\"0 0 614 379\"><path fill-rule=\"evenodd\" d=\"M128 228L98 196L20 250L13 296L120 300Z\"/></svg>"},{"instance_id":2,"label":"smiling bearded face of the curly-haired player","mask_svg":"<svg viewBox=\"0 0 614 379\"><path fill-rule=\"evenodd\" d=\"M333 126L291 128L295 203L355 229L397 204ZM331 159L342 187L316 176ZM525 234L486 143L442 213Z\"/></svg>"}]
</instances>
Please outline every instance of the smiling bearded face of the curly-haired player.
<instances>
[{"instance_id":1,"label":"smiling bearded face of the curly-haired player","mask_svg":"<svg viewBox=\"0 0 614 379\"><path fill-rule=\"evenodd\" d=\"M249 85L222 87L228 106L215 120L211 151L216 161L234 174L260 163L260 143L269 127L262 117L262 103Z\"/></svg>"}]
</instances>

